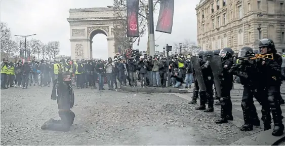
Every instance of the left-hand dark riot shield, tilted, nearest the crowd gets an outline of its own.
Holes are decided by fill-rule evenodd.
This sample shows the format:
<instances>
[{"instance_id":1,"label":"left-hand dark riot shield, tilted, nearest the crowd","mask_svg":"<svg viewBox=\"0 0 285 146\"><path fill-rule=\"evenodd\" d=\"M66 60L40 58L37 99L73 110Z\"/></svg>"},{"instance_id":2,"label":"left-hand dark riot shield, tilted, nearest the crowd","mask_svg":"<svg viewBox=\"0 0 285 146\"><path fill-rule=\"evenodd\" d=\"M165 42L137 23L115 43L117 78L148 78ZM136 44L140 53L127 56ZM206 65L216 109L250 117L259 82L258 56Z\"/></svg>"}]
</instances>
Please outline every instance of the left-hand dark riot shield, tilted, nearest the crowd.
<instances>
[{"instance_id":1,"label":"left-hand dark riot shield, tilted, nearest the crowd","mask_svg":"<svg viewBox=\"0 0 285 146\"><path fill-rule=\"evenodd\" d=\"M207 91L204 78L203 78L203 74L202 74L202 69L201 69L200 62L199 62L199 58L197 56L191 56L191 61L193 64L193 68L195 70L195 79L197 79L199 89L201 91Z\"/></svg>"}]
</instances>

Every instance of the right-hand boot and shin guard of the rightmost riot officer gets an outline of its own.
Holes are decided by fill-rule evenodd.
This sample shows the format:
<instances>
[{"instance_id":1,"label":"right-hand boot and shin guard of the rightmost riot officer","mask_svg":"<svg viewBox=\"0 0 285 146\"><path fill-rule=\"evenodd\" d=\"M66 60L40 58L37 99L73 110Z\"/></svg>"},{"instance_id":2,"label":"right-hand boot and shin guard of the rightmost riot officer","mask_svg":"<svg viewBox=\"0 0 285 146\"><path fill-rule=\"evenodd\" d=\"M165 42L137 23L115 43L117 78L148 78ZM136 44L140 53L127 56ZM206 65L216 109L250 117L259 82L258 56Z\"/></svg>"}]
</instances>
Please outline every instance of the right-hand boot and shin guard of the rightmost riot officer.
<instances>
[{"instance_id":1,"label":"right-hand boot and shin guard of the rightmost riot officer","mask_svg":"<svg viewBox=\"0 0 285 146\"><path fill-rule=\"evenodd\" d=\"M281 136L284 130L284 125L282 123L283 116L281 115L282 112L281 112L279 104L276 106L277 106L276 108L271 108L272 119L274 122L274 128L273 128L272 135Z\"/></svg>"}]
</instances>

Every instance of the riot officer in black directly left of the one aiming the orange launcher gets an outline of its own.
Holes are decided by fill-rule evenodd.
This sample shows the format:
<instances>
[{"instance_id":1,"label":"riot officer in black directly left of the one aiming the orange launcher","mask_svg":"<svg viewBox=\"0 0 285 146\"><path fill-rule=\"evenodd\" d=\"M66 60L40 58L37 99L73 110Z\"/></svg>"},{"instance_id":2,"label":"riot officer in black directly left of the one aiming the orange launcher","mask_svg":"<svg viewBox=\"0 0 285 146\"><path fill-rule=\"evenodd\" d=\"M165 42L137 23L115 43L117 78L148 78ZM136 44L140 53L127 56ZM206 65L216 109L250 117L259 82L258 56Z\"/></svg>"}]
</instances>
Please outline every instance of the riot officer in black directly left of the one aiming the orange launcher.
<instances>
[{"instance_id":1,"label":"riot officer in black directly left of the one aiming the orange launcher","mask_svg":"<svg viewBox=\"0 0 285 146\"><path fill-rule=\"evenodd\" d=\"M260 121L254 105L254 91L258 86L258 71L255 60L250 60L250 57L255 53L250 47L243 47L238 52L240 64L232 70L232 74L240 78L240 83L243 85L243 94L241 99L241 108L243 112L243 124L239 129L241 131L252 131L253 125L260 126ZM259 100L257 98L257 100Z\"/></svg>"}]
</instances>

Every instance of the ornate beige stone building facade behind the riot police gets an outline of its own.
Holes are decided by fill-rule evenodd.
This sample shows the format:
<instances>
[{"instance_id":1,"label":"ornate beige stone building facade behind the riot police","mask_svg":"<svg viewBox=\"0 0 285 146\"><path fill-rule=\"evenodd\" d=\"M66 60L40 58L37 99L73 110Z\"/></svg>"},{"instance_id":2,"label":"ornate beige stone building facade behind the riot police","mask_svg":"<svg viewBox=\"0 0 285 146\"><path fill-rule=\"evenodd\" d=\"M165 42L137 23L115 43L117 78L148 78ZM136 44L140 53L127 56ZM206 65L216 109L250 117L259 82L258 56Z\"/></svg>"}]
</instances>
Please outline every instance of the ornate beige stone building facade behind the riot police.
<instances>
[{"instance_id":1,"label":"ornate beige stone building facade behind the riot police","mask_svg":"<svg viewBox=\"0 0 285 146\"><path fill-rule=\"evenodd\" d=\"M197 41L203 50L253 47L272 39L285 52L285 0L201 0L196 7Z\"/></svg>"}]
</instances>

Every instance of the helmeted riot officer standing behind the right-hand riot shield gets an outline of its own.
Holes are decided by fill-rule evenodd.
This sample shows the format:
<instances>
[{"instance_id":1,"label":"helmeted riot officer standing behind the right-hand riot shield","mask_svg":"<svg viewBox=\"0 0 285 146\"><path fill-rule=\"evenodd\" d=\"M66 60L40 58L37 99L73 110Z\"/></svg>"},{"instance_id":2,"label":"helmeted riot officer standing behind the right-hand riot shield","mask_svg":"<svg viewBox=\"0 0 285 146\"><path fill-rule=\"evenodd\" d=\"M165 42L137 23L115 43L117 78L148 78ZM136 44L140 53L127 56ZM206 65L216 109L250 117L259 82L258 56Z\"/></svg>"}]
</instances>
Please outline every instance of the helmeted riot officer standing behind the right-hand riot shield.
<instances>
[{"instance_id":1,"label":"helmeted riot officer standing behind the right-hand riot shield","mask_svg":"<svg viewBox=\"0 0 285 146\"><path fill-rule=\"evenodd\" d=\"M228 70L233 65L233 57L234 52L231 48L224 48L220 52L220 56L222 57L222 67L223 71L220 76L221 78L221 117L217 119L215 122L217 124L227 123L228 120L233 120L232 117L232 103L230 99L230 90L233 86L233 76ZM217 87L216 87L217 88Z\"/></svg>"}]
</instances>

